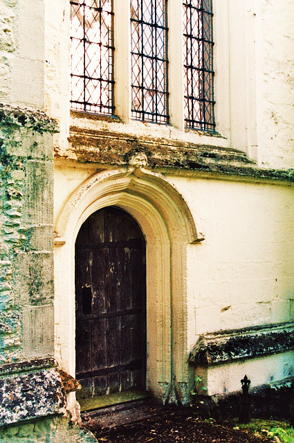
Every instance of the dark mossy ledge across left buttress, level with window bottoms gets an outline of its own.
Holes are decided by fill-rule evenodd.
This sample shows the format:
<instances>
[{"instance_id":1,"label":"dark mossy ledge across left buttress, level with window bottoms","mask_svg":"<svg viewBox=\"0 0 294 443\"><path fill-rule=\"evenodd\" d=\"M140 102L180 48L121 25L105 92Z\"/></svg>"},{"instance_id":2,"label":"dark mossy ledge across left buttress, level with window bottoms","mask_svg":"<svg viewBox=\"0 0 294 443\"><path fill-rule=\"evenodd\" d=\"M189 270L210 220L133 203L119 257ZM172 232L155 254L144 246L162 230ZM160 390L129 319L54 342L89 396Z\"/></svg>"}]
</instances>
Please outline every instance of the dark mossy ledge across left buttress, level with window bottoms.
<instances>
[{"instance_id":1,"label":"dark mossy ledge across left buttress, level with window bottoms","mask_svg":"<svg viewBox=\"0 0 294 443\"><path fill-rule=\"evenodd\" d=\"M43 132L58 132L57 122L48 117L45 112L39 109L22 109L3 103L0 103L0 123L1 126L26 127L40 134Z\"/></svg>"}]
</instances>

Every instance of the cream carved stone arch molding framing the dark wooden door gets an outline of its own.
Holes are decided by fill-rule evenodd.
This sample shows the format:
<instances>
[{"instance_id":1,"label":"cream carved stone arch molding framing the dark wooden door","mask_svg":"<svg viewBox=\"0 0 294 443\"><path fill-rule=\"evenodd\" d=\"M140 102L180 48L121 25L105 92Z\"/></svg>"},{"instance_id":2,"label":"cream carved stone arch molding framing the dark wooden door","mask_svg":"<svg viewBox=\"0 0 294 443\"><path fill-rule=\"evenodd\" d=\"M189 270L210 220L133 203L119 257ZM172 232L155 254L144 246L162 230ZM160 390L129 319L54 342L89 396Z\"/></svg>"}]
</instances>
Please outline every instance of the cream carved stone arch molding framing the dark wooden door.
<instances>
[{"instance_id":1,"label":"cream carved stone arch molding framing the dark wooden door","mask_svg":"<svg viewBox=\"0 0 294 443\"><path fill-rule=\"evenodd\" d=\"M60 211L55 223L55 246L62 246L55 248L56 358L75 374L75 238L95 210L111 205L133 215L146 238L148 390L163 402L168 397L185 402L186 250L203 234L181 194L160 174L138 168L98 172Z\"/></svg>"}]
</instances>

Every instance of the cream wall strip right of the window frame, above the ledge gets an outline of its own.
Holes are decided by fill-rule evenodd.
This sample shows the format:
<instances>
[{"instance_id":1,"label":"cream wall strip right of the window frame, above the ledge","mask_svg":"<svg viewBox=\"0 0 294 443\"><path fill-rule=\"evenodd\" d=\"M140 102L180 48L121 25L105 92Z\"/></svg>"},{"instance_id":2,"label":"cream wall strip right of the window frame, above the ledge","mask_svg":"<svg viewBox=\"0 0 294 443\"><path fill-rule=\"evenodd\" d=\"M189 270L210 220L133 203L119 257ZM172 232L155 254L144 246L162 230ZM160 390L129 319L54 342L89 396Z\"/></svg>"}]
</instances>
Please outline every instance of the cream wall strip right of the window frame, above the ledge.
<instances>
[{"instance_id":1,"label":"cream wall strip right of the window frame, above the ledge","mask_svg":"<svg viewBox=\"0 0 294 443\"><path fill-rule=\"evenodd\" d=\"M259 164L293 168L293 1L255 1L255 8Z\"/></svg>"}]
</instances>

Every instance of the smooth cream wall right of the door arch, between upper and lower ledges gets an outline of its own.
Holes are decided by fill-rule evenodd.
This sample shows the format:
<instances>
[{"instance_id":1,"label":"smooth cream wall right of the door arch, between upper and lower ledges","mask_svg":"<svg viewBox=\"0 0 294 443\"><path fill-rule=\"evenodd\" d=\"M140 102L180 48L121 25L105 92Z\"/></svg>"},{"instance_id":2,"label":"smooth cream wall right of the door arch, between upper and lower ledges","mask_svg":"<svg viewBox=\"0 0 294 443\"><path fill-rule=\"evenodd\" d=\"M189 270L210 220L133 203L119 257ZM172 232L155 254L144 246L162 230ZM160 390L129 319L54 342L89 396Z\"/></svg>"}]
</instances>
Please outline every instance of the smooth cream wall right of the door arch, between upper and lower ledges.
<instances>
[{"instance_id":1,"label":"smooth cream wall right of the door arch, between upper and lower ledges","mask_svg":"<svg viewBox=\"0 0 294 443\"><path fill-rule=\"evenodd\" d=\"M169 179L205 235L188 246L188 349L205 332L293 320L293 187Z\"/></svg>"}]
</instances>

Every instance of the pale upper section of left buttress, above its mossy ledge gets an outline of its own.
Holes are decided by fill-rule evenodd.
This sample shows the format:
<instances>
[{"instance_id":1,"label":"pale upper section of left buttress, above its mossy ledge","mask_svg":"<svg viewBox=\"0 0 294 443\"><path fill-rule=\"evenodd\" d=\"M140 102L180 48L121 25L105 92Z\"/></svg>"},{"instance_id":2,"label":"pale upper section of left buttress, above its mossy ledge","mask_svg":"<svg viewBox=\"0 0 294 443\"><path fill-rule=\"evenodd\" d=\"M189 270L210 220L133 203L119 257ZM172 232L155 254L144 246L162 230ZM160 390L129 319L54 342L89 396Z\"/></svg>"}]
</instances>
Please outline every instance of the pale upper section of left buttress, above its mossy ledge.
<instances>
[{"instance_id":1,"label":"pale upper section of left buttress, above its mossy ledge","mask_svg":"<svg viewBox=\"0 0 294 443\"><path fill-rule=\"evenodd\" d=\"M0 2L0 101L44 108L44 1Z\"/></svg>"}]
</instances>

